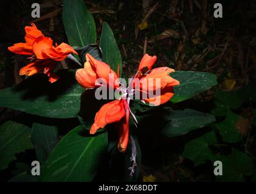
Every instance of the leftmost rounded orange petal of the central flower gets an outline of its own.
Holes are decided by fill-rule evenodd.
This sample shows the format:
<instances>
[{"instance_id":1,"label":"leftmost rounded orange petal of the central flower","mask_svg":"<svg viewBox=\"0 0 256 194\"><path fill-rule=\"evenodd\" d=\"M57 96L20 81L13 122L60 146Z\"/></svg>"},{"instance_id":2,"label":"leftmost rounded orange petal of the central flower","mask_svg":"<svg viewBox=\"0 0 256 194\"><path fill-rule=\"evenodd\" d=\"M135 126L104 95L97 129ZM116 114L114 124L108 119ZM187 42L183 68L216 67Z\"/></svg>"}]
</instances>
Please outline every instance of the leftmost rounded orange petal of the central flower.
<instances>
[{"instance_id":1,"label":"leftmost rounded orange petal of the central flower","mask_svg":"<svg viewBox=\"0 0 256 194\"><path fill-rule=\"evenodd\" d=\"M95 87L95 81L97 79L97 74L91 67L90 62L85 62L85 69L78 69L75 72L75 78L78 83L85 88Z\"/></svg>"}]
</instances>

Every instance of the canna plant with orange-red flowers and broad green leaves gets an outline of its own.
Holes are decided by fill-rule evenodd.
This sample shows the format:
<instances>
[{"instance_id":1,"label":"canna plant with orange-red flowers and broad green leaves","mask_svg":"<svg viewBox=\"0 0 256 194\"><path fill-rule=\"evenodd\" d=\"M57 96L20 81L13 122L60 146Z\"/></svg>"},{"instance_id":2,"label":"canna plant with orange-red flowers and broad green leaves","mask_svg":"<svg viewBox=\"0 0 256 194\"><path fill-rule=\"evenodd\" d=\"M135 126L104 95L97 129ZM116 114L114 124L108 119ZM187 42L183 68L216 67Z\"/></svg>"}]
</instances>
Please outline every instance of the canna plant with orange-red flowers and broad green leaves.
<instances>
[{"instance_id":1,"label":"canna plant with orange-red flowers and broad green leaves","mask_svg":"<svg viewBox=\"0 0 256 194\"><path fill-rule=\"evenodd\" d=\"M215 121L207 113L171 109L173 103L216 85L215 75L175 72L169 67L153 69L156 56L146 54L126 86L120 81L120 51L106 22L97 45L95 22L83 0L64 0L63 24L69 45L53 46L52 39L31 24L25 28L26 43L9 47L11 52L29 55L32 61L21 69L20 74L27 76L24 81L0 90L0 106L39 117L28 125L8 121L0 126L0 155L4 158L0 170L15 160L15 153L26 149L35 149L41 164L37 178L23 172L11 181L92 181L100 175L111 181L137 181L139 138L143 138L137 136L137 130L147 133L145 119L151 127L157 123L154 132L165 138ZM69 69L61 69L60 61ZM99 90L117 95L97 99ZM131 101L134 96L136 100ZM64 123L64 134L60 123Z\"/></svg>"}]
</instances>

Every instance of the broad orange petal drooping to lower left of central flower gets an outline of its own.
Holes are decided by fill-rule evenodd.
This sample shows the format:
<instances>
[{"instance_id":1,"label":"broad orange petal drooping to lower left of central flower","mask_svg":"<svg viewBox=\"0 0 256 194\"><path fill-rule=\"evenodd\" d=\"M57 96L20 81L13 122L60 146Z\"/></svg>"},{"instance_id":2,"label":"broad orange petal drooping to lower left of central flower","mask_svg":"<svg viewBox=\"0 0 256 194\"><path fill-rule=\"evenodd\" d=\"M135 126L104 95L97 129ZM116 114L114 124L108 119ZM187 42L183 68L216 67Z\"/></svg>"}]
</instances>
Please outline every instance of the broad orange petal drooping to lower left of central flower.
<instances>
[{"instance_id":1,"label":"broad orange petal drooping to lower left of central flower","mask_svg":"<svg viewBox=\"0 0 256 194\"><path fill-rule=\"evenodd\" d=\"M98 129L104 128L107 124L120 121L123 116L125 116L123 101L116 100L103 105L95 115L90 134L94 134Z\"/></svg>"}]
</instances>

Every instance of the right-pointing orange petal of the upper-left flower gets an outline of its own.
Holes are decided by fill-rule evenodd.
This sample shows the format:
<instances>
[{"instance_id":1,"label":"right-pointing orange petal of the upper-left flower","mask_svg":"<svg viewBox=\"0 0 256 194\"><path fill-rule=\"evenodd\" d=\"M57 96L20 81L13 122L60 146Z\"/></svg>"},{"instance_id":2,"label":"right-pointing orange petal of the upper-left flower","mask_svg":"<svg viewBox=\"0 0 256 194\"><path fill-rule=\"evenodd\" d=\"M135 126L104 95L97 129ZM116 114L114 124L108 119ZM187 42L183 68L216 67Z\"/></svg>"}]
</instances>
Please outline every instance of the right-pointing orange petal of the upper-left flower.
<instances>
[{"instance_id":1,"label":"right-pointing orange petal of the upper-left flower","mask_svg":"<svg viewBox=\"0 0 256 194\"><path fill-rule=\"evenodd\" d=\"M54 59L55 61L63 61L67 55L74 53L78 55L78 53L68 44L61 43L58 47L52 47L50 49L43 49L43 56L50 59Z\"/></svg>"}]
</instances>

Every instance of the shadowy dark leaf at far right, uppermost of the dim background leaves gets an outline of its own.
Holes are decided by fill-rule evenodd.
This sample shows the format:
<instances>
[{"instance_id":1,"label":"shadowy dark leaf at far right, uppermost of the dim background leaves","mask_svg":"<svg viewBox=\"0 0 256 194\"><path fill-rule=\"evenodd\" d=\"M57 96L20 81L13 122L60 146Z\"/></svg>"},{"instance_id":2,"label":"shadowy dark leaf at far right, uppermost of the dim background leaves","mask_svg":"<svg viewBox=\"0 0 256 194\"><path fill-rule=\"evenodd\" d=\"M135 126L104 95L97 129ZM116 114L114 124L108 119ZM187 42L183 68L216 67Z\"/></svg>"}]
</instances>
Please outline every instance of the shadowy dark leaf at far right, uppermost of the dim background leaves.
<instances>
[{"instance_id":1,"label":"shadowy dark leaf at far right, uppermost of the dim background leaves","mask_svg":"<svg viewBox=\"0 0 256 194\"><path fill-rule=\"evenodd\" d=\"M212 109L213 115L225 116L227 110L238 109L243 103L240 92L225 92L219 89L215 93L215 107Z\"/></svg>"}]
</instances>

